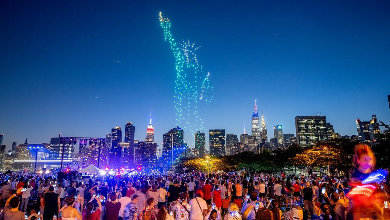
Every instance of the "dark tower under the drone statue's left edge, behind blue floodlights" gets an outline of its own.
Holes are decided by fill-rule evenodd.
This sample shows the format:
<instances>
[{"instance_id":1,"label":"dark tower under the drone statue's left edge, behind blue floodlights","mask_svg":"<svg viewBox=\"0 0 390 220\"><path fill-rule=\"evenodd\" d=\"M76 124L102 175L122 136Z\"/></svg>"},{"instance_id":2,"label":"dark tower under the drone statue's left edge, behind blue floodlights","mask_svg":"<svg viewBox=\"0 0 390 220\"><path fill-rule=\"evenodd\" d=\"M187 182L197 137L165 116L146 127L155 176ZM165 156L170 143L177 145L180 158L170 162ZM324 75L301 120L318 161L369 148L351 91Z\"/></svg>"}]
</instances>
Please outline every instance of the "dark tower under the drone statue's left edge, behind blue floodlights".
<instances>
[{"instance_id":1,"label":"dark tower under the drone statue's left edge, behind blue floodlights","mask_svg":"<svg viewBox=\"0 0 390 220\"><path fill-rule=\"evenodd\" d=\"M169 169L184 156L186 145L184 144L184 131L180 127L174 127L163 135L163 156L162 164L165 169Z\"/></svg>"}]
</instances>

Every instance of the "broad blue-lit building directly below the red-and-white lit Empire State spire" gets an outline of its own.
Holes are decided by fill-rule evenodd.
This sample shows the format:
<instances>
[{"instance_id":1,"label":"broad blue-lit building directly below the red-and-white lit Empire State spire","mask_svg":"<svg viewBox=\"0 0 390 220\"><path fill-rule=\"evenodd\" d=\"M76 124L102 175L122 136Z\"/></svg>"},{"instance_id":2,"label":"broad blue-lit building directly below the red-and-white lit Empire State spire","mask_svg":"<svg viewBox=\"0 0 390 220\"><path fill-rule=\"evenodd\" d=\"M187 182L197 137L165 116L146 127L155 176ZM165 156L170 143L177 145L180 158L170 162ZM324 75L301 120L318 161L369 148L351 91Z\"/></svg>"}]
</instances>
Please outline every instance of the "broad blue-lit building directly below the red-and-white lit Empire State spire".
<instances>
[{"instance_id":1,"label":"broad blue-lit building directly below the red-and-white lit Empire State spire","mask_svg":"<svg viewBox=\"0 0 390 220\"><path fill-rule=\"evenodd\" d=\"M135 163L143 169L156 167L157 144L152 141L139 141L135 145Z\"/></svg>"}]
</instances>

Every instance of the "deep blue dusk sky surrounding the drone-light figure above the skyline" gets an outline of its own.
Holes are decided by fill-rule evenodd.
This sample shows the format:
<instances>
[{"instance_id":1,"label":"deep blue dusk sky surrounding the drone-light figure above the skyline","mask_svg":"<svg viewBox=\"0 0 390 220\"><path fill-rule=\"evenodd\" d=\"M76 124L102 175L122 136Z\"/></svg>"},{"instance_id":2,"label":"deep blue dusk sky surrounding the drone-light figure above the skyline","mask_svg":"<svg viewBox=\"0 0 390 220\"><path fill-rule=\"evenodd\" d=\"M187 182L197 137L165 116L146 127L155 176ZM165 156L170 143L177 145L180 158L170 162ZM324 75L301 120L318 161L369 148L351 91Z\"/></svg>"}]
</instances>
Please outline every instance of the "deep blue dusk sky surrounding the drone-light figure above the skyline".
<instances>
[{"instance_id":1,"label":"deep blue dusk sky surrounding the drone-light figure above the skyline","mask_svg":"<svg viewBox=\"0 0 390 220\"><path fill-rule=\"evenodd\" d=\"M161 147L176 126L176 72L159 11L176 40L201 46L214 87L207 136L242 134L244 123L251 133L255 99L268 138L274 125L295 134L294 117L317 112L341 135L356 135L356 118L390 121L390 1L243 2L1 1L3 144L104 137L115 126L124 138L126 121L144 140L152 110Z\"/></svg>"}]
</instances>

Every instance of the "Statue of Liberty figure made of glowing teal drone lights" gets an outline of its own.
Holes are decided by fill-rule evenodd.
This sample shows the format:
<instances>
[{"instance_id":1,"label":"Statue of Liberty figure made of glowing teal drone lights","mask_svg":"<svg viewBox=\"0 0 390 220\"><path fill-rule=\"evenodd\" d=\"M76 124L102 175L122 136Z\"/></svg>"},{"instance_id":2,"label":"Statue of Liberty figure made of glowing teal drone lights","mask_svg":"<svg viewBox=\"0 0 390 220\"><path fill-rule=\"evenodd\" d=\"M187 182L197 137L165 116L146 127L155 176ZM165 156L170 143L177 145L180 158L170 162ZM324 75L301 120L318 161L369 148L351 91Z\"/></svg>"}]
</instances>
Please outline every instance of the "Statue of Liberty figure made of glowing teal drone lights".
<instances>
[{"instance_id":1,"label":"Statue of Liberty figure made of glowing teal drone lights","mask_svg":"<svg viewBox=\"0 0 390 220\"><path fill-rule=\"evenodd\" d=\"M183 129L191 134L203 129L204 106L208 105L213 98L213 86L209 82L210 73L199 65L195 51L195 42L183 41L176 43L170 32L171 23L168 18L163 18L160 12L160 25L164 30L164 40L169 42L170 48L176 59L175 80L175 108L176 121Z\"/></svg>"}]
</instances>

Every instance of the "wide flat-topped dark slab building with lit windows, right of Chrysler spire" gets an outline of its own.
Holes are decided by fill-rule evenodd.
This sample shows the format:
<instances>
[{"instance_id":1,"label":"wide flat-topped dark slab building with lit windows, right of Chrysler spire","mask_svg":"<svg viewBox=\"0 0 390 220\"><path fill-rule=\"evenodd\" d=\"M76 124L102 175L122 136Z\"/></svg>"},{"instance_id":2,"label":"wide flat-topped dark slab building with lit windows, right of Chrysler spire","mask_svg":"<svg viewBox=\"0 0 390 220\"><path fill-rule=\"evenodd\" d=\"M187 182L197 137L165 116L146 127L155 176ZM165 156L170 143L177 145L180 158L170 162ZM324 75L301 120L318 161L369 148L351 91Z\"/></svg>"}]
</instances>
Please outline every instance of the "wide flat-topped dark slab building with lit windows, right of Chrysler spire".
<instances>
[{"instance_id":1,"label":"wide flat-topped dark slab building with lit windows, right of Chrysler spire","mask_svg":"<svg viewBox=\"0 0 390 220\"><path fill-rule=\"evenodd\" d=\"M298 144L301 147L315 145L318 141L327 141L325 116L296 116L295 130Z\"/></svg>"}]
</instances>

